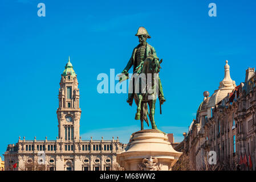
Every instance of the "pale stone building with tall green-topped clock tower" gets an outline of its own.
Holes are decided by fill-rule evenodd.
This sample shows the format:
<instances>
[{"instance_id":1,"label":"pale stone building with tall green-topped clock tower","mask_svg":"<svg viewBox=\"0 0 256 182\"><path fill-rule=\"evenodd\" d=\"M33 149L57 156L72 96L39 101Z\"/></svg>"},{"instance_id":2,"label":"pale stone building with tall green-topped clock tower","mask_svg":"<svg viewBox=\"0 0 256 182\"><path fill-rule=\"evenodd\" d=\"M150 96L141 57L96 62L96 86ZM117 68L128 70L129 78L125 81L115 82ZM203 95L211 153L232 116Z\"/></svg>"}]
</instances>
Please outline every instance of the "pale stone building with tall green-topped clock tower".
<instances>
[{"instance_id":1,"label":"pale stone building with tall green-topped clock tower","mask_svg":"<svg viewBox=\"0 0 256 182\"><path fill-rule=\"evenodd\" d=\"M4 154L6 170L108 171L116 163L116 153L126 147L118 137L82 140L78 79L70 59L61 76L57 110L59 137L56 140L19 137L18 143L9 144Z\"/></svg>"}]
</instances>

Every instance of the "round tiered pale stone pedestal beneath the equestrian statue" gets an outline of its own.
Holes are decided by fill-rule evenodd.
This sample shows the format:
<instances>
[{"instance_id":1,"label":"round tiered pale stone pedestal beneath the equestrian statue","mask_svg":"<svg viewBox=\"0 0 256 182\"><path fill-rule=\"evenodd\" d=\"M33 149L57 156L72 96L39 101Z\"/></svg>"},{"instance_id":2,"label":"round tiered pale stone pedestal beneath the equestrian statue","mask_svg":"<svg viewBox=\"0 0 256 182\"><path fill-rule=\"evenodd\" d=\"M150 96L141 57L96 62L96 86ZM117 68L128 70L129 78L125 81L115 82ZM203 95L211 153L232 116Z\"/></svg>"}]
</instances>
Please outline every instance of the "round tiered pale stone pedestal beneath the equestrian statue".
<instances>
[{"instance_id":1,"label":"round tiered pale stone pedestal beneath the equestrian statue","mask_svg":"<svg viewBox=\"0 0 256 182\"><path fill-rule=\"evenodd\" d=\"M126 171L170 171L181 154L170 145L167 134L151 129L133 133L116 160Z\"/></svg>"}]
</instances>

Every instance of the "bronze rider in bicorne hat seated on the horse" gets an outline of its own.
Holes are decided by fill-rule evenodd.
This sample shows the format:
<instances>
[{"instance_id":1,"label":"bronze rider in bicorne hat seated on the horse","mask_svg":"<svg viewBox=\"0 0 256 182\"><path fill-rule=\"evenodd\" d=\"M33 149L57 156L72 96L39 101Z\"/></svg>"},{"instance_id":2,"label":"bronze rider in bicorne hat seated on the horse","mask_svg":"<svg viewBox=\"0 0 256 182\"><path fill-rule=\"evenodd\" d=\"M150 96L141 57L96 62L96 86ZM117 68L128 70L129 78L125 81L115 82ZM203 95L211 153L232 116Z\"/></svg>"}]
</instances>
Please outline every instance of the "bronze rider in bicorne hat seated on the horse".
<instances>
[{"instance_id":1,"label":"bronze rider in bicorne hat seated on the horse","mask_svg":"<svg viewBox=\"0 0 256 182\"><path fill-rule=\"evenodd\" d=\"M124 71L122 72L125 75L128 74L128 71L132 66L133 66L133 74L138 73L138 71L140 70L140 67L139 67L140 63L143 62L149 56L159 60L159 58L156 56L155 48L153 48L151 45L147 43L147 38L151 38L147 30L144 27L139 27L137 34L135 36L139 37L140 44L133 49L132 57L128 61L127 66L124 68ZM130 84L134 84L133 81ZM129 105L132 105L133 96L134 96L134 92L128 93L127 102ZM165 102L160 78L159 78L159 100L160 100L160 104L163 104Z\"/></svg>"}]
</instances>

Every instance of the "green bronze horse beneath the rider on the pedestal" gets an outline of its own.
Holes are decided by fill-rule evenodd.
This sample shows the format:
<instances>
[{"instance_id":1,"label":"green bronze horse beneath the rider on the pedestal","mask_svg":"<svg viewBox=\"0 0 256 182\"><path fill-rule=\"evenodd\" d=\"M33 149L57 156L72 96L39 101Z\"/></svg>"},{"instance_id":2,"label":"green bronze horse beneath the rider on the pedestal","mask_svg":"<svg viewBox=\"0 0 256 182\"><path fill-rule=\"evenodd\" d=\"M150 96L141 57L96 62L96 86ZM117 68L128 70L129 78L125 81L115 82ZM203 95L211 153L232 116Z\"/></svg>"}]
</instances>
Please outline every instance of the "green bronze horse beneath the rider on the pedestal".
<instances>
[{"instance_id":1,"label":"green bronze horse beneath the rider on the pedestal","mask_svg":"<svg viewBox=\"0 0 256 182\"><path fill-rule=\"evenodd\" d=\"M151 121L152 129L157 129L155 123L155 106L159 90L159 72L160 63L162 60L157 60L153 57L147 57L140 66L140 71L135 77L135 91L134 100L137 105L136 120L141 122L141 130L144 129L143 122L148 122L148 117ZM139 90L138 90L139 89ZM149 105L149 113L148 113Z\"/></svg>"}]
</instances>

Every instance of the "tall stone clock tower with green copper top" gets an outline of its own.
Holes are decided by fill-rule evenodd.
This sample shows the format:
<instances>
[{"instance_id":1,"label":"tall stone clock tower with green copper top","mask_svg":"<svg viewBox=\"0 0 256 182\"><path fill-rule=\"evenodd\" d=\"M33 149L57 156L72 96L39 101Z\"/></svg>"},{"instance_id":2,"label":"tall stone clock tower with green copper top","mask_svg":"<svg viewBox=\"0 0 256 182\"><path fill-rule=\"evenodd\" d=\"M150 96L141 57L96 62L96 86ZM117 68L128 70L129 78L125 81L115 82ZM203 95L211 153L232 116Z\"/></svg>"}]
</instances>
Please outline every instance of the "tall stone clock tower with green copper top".
<instances>
[{"instance_id":1,"label":"tall stone clock tower with green copper top","mask_svg":"<svg viewBox=\"0 0 256 182\"><path fill-rule=\"evenodd\" d=\"M63 141L79 140L81 109L79 107L79 89L76 73L68 63L62 73L59 88L59 108L57 110L59 139Z\"/></svg>"}]
</instances>

